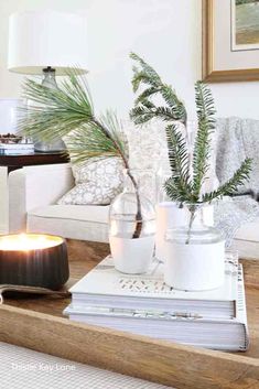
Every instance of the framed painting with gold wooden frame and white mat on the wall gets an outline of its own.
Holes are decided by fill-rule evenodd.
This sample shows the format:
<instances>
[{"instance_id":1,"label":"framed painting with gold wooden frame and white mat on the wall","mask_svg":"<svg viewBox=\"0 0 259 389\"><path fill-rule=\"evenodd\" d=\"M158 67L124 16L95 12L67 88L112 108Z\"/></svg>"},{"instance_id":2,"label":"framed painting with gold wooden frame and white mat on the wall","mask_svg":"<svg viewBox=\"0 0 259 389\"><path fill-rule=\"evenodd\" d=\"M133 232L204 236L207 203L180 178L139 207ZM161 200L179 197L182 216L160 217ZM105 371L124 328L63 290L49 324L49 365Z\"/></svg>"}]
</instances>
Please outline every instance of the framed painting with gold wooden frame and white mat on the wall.
<instances>
[{"instance_id":1,"label":"framed painting with gold wooden frame and white mat on the wall","mask_svg":"<svg viewBox=\"0 0 259 389\"><path fill-rule=\"evenodd\" d=\"M259 79L259 0L203 0L203 79Z\"/></svg>"}]
</instances>

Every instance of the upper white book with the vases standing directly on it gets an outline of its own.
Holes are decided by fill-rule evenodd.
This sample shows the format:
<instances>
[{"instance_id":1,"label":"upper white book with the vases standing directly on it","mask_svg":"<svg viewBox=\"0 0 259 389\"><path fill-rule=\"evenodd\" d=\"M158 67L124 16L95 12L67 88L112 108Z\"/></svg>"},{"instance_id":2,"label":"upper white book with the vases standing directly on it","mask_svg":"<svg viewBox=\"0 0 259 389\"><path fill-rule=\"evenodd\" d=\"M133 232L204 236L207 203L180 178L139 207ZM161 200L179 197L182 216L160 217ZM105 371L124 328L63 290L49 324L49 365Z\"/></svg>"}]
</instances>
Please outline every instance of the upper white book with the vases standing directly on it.
<instances>
[{"instance_id":1,"label":"upper white book with the vases standing directly on it","mask_svg":"<svg viewBox=\"0 0 259 389\"><path fill-rule=\"evenodd\" d=\"M148 273L130 275L118 272L109 256L71 289L72 306L231 318L236 312L237 270L237 260L229 253L219 289L186 292L164 284L162 262L154 260Z\"/></svg>"}]
</instances>

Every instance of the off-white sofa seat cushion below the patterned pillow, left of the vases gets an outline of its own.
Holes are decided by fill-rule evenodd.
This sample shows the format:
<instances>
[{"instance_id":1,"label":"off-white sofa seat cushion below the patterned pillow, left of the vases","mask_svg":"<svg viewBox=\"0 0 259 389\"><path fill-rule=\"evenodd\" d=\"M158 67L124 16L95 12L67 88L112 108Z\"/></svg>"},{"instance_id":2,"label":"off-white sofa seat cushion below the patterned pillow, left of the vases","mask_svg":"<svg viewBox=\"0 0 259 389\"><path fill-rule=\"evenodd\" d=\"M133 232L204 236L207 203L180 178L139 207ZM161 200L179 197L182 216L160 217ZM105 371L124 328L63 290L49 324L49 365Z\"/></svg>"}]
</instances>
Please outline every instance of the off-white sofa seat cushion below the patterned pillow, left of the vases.
<instances>
[{"instance_id":1,"label":"off-white sofa seat cushion below the patterned pillow, left of the vases","mask_svg":"<svg viewBox=\"0 0 259 389\"><path fill-rule=\"evenodd\" d=\"M64 238L108 241L109 206L48 205L28 214L28 231Z\"/></svg>"}]
</instances>

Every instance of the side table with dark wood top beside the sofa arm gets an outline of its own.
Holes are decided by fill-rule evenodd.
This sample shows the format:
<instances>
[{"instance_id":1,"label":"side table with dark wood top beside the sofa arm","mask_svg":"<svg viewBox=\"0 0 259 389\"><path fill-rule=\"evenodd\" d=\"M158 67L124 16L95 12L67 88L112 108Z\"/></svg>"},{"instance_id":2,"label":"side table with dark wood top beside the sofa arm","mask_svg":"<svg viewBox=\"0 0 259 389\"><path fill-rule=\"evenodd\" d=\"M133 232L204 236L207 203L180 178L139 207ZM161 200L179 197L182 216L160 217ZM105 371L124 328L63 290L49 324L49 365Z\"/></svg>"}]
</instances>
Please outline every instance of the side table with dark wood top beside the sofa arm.
<instances>
[{"instance_id":1,"label":"side table with dark wood top beside the sofa arm","mask_svg":"<svg viewBox=\"0 0 259 389\"><path fill-rule=\"evenodd\" d=\"M9 233L9 173L23 166L67 162L65 153L0 154L0 234Z\"/></svg>"}]
</instances>

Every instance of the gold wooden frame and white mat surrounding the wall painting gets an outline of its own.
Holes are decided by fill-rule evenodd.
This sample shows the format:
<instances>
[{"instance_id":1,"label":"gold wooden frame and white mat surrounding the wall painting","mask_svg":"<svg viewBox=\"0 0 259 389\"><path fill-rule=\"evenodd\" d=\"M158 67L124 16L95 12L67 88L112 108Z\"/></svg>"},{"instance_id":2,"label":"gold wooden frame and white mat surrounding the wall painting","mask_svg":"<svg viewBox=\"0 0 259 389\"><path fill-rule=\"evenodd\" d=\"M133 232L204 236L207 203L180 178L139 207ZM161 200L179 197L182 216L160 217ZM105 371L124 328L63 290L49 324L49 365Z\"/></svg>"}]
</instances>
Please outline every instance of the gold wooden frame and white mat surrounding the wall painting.
<instances>
[{"instance_id":1,"label":"gold wooden frame and white mat surrounding the wall painting","mask_svg":"<svg viewBox=\"0 0 259 389\"><path fill-rule=\"evenodd\" d=\"M250 2L249 7L257 6L255 10L259 14L259 3ZM255 36L256 44L250 42L239 44L240 39L235 42L235 34L238 36L238 32L235 30L237 28L234 7L238 7L236 0L203 0L202 2L202 75L205 82L259 80L259 36Z\"/></svg>"}]
</instances>

